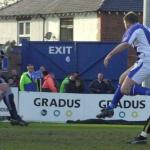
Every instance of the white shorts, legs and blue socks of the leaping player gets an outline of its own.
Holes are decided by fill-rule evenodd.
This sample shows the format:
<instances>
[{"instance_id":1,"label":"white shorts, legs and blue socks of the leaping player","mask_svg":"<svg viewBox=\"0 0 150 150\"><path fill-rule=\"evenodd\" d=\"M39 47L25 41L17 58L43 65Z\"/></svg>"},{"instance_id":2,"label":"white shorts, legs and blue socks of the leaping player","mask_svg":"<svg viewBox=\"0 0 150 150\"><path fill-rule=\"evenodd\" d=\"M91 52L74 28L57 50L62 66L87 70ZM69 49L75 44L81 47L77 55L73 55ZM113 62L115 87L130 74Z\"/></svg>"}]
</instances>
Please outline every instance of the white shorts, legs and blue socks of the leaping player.
<instances>
[{"instance_id":1,"label":"white shorts, legs and blue socks of the leaping player","mask_svg":"<svg viewBox=\"0 0 150 150\"><path fill-rule=\"evenodd\" d=\"M149 89L142 88L138 85L138 84L141 84L142 81L146 79L147 76L150 74L149 67L150 67L150 64L143 64L142 62L137 62L134 64L132 68L128 69L125 72L125 76L124 76L125 79L123 78L122 85L117 88L111 104L107 106L107 108L103 109L102 112L98 114L96 117L97 118L112 117L114 114L113 109L117 107L117 104L122 98L122 96L123 95L135 95L137 94L137 89L138 89L138 94L141 94L140 91L142 93L150 94ZM134 93L132 91L134 91Z\"/></svg>"}]
</instances>

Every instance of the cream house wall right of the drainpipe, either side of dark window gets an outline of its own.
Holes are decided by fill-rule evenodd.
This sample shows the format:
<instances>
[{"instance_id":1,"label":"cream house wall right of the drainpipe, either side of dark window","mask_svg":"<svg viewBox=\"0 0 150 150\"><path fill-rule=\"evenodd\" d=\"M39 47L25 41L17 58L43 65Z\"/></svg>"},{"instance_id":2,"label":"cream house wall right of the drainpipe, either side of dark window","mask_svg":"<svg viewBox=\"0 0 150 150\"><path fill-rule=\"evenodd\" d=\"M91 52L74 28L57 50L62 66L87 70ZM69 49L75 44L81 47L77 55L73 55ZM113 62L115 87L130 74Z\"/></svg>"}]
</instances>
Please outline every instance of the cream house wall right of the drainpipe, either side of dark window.
<instances>
[{"instance_id":1,"label":"cream house wall right of the drainpipe, either side of dark window","mask_svg":"<svg viewBox=\"0 0 150 150\"><path fill-rule=\"evenodd\" d=\"M52 32L56 40L60 38L60 18L49 17L47 19L47 32ZM97 13L75 16L73 21L74 41L99 41L100 19Z\"/></svg>"}]
</instances>

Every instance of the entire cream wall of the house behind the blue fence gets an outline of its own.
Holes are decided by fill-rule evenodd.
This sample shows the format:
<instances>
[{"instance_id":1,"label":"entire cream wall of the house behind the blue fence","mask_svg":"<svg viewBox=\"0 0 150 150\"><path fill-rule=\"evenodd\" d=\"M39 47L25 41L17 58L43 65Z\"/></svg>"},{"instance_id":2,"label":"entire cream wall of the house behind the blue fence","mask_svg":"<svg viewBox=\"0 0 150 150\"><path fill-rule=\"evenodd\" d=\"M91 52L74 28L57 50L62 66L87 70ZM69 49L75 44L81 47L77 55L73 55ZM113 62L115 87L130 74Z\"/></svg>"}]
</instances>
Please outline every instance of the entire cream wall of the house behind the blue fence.
<instances>
[{"instance_id":1,"label":"entire cream wall of the house behind the blue fence","mask_svg":"<svg viewBox=\"0 0 150 150\"><path fill-rule=\"evenodd\" d=\"M79 15L74 17L73 24L74 41L99 41L100 40L100 18L96 13L88 15ZM33 18L30 25L31 41L43 40L43 19ZM45 33L52 32L56 39L60 38L60 18L48 17L45 22ZM3 44L8 40L17 41L17 21L1 20L0 21L0 43Z\"/></svg>"}]
</instances>

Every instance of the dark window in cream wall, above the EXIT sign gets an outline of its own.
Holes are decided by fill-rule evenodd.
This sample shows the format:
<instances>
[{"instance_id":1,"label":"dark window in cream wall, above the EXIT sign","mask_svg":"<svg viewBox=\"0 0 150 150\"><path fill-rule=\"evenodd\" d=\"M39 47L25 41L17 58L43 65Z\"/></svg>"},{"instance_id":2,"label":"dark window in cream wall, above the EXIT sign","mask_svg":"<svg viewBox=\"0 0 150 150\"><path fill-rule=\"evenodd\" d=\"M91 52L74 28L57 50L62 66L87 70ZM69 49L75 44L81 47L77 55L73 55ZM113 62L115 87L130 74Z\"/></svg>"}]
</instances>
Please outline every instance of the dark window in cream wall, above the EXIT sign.
<instances>
[{"instance_id":1,"label":"dark window in cream wall, above the EXIT sign","mask_svg":"<svg viewBox=\"0 0 150 150\"><path fill-rule=\"evenodd\" d=\"M60 40L73 41L73 18L60 19Z\"/></svg>"}]
</instances>

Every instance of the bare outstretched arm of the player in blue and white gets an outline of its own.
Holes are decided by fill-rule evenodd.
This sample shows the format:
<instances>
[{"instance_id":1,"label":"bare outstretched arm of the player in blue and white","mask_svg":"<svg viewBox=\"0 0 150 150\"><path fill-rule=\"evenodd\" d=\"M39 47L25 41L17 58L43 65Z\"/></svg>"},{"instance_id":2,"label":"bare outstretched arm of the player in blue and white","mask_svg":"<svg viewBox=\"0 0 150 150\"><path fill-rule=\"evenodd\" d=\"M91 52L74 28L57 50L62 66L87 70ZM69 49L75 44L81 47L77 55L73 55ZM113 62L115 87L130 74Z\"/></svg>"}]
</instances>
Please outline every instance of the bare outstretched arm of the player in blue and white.
<instances>
[{"instance_id":1,"label":"bare outstretched arm of the player in blue and white","mask_svg":"<svg viewBox=\"0 0 150 150\"><path fill-rule=\"evenodd\" d=\"M105 57L105 59L104 59L104 65L107 67L107 66L108 66L108 63L109 63L109 61L110 61L110 59L111 59L114 55L116 55L116 54L122 52L122 51L125 50L125 49L128 49L130 46L131 46L131 45L130 45L129 43L126 43L126 42L123 42L123 43L120 43L119 45L117 45L117 46L116 46L110 53L108 53L108 55Z\"/></svg>"}]
</instances>

